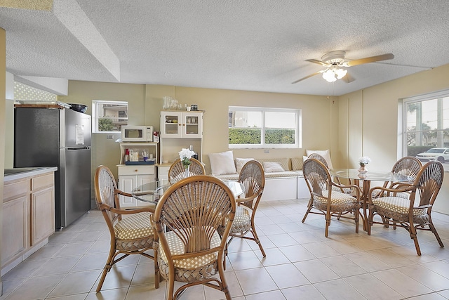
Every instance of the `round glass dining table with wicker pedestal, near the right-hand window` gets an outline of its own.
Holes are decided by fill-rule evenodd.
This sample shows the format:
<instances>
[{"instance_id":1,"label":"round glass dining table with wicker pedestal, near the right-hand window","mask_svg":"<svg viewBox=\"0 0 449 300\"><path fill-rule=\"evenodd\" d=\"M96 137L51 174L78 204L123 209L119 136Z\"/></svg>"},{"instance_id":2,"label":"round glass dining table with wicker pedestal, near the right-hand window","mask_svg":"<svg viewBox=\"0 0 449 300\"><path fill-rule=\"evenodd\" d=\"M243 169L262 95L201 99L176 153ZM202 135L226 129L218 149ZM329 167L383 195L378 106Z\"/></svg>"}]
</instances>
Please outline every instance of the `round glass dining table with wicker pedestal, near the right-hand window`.
<instances>
[{"instance_id":1,"label":"round glass dining table with wicker pedestal, near the right-hand window","mask_svg":"<svg viewBox=\"0 0 449 300\"><path fill-rule=\"evenodd\" d=\"M410 182L413 180L412 177L394 173L394 172L372 172L367 171L366 173L360 173L358 169L329 169L330 176L337 178L349 179L350 183L354 183L361 187L361 202L363 210L363 230L368 229L368 197L371 188L371 181L380 182L382 185L385 182Z\"/></svg>"}]
</instances>

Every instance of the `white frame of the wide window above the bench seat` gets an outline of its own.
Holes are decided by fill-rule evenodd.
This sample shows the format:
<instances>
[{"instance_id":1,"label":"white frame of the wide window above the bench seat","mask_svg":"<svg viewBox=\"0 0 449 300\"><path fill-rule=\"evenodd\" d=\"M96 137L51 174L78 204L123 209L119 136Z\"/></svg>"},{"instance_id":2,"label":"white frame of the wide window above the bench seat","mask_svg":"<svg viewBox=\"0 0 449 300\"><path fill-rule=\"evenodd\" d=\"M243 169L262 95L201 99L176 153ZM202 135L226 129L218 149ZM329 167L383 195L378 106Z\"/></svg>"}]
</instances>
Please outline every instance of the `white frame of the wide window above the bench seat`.
<instances>
[{"instance_id":1,"label":"white frame of the wide window above the bench seat","mask_svg":"<svg viewBox=\"0 0 449 300\"><path fill-rule=\"evenodd\" d=\"M229 144L229 129L230 128L241 128L241 127L231 127L229 126L229 111L247 111L247 112L262 112L262 126L260 127L261 136L260 144ZM295 113L295 143L294 144L266 144L265 143L265 130L271 129L271 127L265 126L265 112L289 112ZM279 108L279 107L250 107L250 106L236 106L229 105L227 110L228 116L228 147L229 149L286 149L301 148L302 144L302 110L299 108Z\"/></svg>"}]
</instances>

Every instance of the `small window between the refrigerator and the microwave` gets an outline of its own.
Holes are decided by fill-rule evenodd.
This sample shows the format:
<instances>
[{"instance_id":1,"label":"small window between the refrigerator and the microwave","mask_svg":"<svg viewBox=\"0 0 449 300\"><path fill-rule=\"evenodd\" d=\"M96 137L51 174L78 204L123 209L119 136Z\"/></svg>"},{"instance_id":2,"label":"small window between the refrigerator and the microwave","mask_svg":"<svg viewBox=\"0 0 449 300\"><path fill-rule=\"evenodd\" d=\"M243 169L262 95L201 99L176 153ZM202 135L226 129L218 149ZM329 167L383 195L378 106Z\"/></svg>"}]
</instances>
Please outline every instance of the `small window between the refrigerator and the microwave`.
<instances>
[{"instance_id":1,"label":"small window between the refrigerator and the microwave","mask_svg":"<svg viewBox=\"0 0 449 300\"><path fill-rule=\"evenodd\" d=\"M128 125L128 102L92 100L92 131L118 133Z\"/></svg>"}]
</instances>

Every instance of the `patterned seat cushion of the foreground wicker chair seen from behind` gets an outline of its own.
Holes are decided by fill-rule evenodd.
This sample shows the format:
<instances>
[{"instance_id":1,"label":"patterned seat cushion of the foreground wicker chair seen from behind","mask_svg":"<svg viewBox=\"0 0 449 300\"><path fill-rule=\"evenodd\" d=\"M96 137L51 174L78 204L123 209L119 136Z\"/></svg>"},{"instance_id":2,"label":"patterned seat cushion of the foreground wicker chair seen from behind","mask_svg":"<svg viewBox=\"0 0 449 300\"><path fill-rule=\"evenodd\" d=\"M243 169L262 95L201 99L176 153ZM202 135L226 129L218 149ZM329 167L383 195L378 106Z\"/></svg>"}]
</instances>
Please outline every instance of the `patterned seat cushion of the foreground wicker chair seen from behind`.
<instances>
[{"instance_id":1,"label":"patterned seat cushion of the foreground wicker chair seen from behind","mask_svg":"<svg viewBox=\"0 0 449 300\"><path fill-rule=\"evenodd\" d=\"M166 232L165 236L172 255L185 254L185 245L174 231ZM217 232L215 232L213 234L212 240L210 240L210 248L218 247L220 246L220 243L221 237ZM159 254L161 261L163 261L164 263L168 263L166 253L163 251L161 242L159 242ZM206 266L216 260L217 252L214 252L206 255L194 256L188 259L175 259L173 261L173 265L175 266L175 268L192 270L201 266Z\"/></svg>"}]
</instances>

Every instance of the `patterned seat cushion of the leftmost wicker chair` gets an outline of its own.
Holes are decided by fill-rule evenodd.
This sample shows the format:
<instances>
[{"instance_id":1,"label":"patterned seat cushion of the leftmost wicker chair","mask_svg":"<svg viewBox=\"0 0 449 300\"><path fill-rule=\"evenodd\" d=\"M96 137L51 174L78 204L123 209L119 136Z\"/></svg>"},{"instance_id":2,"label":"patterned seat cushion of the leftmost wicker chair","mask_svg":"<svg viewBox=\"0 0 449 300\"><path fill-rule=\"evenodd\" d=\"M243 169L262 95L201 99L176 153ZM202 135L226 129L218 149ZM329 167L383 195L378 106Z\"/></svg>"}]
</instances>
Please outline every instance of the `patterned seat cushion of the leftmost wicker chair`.
<instances>
[{"instance_id":1,"label":"patterned seat cushion of the leftmost wicker chair","mask_svg":"<svg viewBox=\"0 0 449 300\"><path fill-rule=\"evenodd\" d=\"M118 240L136 240L153 235L153 226L149 221L148 211L123 216L114 226L115 237Z\"/></svg>"}]
</instances>

